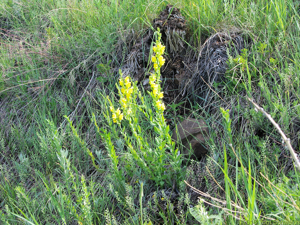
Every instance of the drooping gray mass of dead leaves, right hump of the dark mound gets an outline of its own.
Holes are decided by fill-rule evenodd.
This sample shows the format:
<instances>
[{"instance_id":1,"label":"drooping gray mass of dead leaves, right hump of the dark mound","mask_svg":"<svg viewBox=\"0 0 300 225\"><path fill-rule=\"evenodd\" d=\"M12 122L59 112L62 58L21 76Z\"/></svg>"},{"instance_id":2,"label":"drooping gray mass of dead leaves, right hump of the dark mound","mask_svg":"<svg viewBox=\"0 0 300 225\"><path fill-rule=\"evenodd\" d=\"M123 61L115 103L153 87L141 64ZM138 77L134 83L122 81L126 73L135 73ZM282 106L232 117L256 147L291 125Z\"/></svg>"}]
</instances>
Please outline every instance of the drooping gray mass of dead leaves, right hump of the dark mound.
<instances>
[{"instance_id":1,"label":"drooping gray mass of dead leaves, right hump of the dark mound","mask_svg":"<svg viewBox=\"0 0 300 225\"><path fill-rule=\"evenodd\" d=\"M199 97L208 88L207 85L211 87L213 82L224 80L228 53L236 57L244 48L245 40L241 35L217 33L208 38L200 49L196 63L190 64L185 82L180 85L182 95Z\"/></svg>"}]
</instances>

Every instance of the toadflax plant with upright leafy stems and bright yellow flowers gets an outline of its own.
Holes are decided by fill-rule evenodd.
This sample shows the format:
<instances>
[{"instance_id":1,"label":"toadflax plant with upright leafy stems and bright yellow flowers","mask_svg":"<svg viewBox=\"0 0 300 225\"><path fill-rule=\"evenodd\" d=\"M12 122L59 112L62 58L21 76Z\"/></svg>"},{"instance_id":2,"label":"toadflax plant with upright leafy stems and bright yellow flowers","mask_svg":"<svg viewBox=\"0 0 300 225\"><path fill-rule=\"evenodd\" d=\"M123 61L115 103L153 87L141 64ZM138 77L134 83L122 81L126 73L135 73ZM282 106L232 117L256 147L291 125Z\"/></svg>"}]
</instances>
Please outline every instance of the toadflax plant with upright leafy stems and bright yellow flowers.
<instances>
[{"instance_id":1,"label":"toadflax plant with upright leafy stems and bright yellow flowers","mask_svg":"<svg viewBox=\"0 0 300 225\"><path fill-rule=\"evenodd\" d=\"M153 46L154 55L151 58L154 72L150 73L149 76L151 92L148 91L150 94L150 98L148 98L152 101L152 104L147 104L144 101L145 97L139 91L137 82L132 82L129 76L123 78L120 70L119 83L116 85L119 93L118 107L107 97L109 110L112 115L110 116L109 113L105 114L108 124L112 127L117 126L117 128L111 129L114 133L113 135L103 129L104 133L100 134L106 142L112 166L119 180L124 180L124 173L118 169L118 156L111 141L112 136L119 137L118 132L122 134L127 149L132 154L137 165L143 170L143 173L148 174L150 179L154 180L157 185L163 186L167 181L167 185L170 186L172 185L172 180L179 182L182 178L180 169L182 159L181 155L178 154L178 149L175 149L175 143L171 140L169 134L169 125L164 119L166 107L162 102L164 92L161 91L160 70L165 63L163 57L165 46L161 44L159 29L156 34L158 39L155 42L155 46ZM146 121L142 121L141 115L144 115L143 117L146 118ZM94 122L98 128L96 121ZM147 131L143 129L145 123L150 125L148 127L153 128L150 131L151 137L149 137L149 129Z\"/></svg>"}]
</instances>

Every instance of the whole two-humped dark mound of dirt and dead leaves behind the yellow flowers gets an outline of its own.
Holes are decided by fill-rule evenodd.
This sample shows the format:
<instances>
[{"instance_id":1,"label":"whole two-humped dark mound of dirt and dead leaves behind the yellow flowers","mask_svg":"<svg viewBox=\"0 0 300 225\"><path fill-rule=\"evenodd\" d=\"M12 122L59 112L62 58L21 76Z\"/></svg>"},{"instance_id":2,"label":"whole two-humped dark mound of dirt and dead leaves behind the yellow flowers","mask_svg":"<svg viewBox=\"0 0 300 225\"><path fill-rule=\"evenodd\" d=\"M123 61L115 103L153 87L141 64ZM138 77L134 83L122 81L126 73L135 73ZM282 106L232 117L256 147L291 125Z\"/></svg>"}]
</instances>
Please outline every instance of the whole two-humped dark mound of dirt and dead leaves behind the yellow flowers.
<instances>
[{"instance_id":1,"label":"whole two-humped dark mound of dirt and dead leaves behind the yellow flowers","mask_svg":"<svg viewBox=\"0 0 300 225\"><path fill-rule=\"evenodd\" d=\"M227 54L235 57L245 47L241 35L217 33L209 37L198 52L192 48L187 50L186 21L180 10L170 4L153 20L153 28L160 28L162 42L166 46L166 63L161 68L165 93L163 101L166 104L176 104L184 97L199 102L204 90L211 88L214 81L220 82L224 79L228 68ZM124 76L133 76L146 90L150 89L146 72L153 71L149 64L153 40L154 32L149 28L131 48L121 68Z\"/></svg>"}]
</instances>

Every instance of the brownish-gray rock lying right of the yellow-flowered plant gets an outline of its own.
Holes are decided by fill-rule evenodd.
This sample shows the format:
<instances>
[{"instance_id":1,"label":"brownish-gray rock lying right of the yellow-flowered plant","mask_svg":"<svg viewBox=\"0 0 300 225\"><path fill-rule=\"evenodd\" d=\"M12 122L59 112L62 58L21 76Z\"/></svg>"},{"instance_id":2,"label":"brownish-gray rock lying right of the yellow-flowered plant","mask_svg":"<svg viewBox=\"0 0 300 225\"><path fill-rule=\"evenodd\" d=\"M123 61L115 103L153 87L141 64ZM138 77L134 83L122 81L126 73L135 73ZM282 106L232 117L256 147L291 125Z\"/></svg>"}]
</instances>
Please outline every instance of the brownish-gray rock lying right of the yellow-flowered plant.
<instances>
[{"instance_id":1,"label":"brownish-gray rock lying right of the yellow-flowered plant","mask_svg":"<svg viewBox=\"0 0 300 225\"><path fill-rule=\"evenodd\" d=\"M190 145L193 149L193 155L190 159L200 159L207 153L205 143L209 140L209 130L205 121L202 119L185 119L177 125L178 132L176 129L173 131L172 139L176 143L182 143L182 154L188 155L190 151Z\"/></svg>"}]
</instances>

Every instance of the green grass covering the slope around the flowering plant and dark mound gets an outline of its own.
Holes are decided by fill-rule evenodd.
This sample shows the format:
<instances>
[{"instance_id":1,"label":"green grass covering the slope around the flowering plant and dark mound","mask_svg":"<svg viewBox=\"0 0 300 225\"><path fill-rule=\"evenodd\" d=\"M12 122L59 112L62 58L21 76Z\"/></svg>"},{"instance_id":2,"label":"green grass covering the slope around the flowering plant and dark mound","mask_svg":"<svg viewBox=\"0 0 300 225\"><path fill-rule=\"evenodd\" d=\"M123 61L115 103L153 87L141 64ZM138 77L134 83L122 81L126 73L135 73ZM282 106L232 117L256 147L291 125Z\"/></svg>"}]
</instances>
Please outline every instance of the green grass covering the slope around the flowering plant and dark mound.
<instances>
[{"instance_id":1,"label":"green grass covering the slope around the flowering plant and dark mound","mask_svg":"<svg viewBox=\"0 0 300 225\"><path fill-rule=\"evenodd\" d=\"M166 4L186 18L195 55L216 32L242 32L253 43L241 56L244 68L232 61L237 70L227 73L226 85L208 90L211 101L192 103L179 117L204 119L211 139L206 157L182 165L178 206L172 188L143 173L104 115L107 95L118 105L117 69ZM280 134L247 100L263 107L300 151L298 1L4 0L0 9L1 224L300 221L299 170ZM147 93L145 102L151 105ZM166 110L170 130L175 110ZM124 181L94 118L113 134ZM146 120L139 126L152 129ZM155 146L152 134L145 138Z\"/></svg>"}]
</instances>

